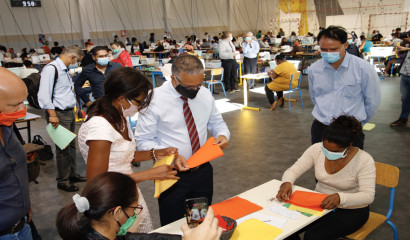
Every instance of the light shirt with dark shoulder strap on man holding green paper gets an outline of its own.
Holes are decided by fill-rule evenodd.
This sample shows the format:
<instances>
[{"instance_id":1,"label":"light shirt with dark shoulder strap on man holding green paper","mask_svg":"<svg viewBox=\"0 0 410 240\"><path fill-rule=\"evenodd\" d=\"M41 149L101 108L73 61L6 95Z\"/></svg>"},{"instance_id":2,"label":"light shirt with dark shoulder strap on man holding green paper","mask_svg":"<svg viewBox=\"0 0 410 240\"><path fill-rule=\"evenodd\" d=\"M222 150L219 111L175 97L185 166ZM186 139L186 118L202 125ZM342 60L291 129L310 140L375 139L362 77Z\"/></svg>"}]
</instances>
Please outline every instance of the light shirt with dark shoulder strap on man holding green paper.
<instances>
[{"instance_id":1,"label":"light shirt with dark shoulder strap on man holding green paper","mask_svg":"<svg viewBox=\"0 0 410 240\"><path fill-rule=\"evenodd\" d=\"M53 94L55 68L49 66L50 64L56 66L58 71L53 99L51 99L51 95ZM74 108L76 100L73 92L73 81L68 74L67 67L60 58L46 65L41 71L40 88L37 97L42 109L59 108L65 110Z\"/></svg>"}]
</instances>

